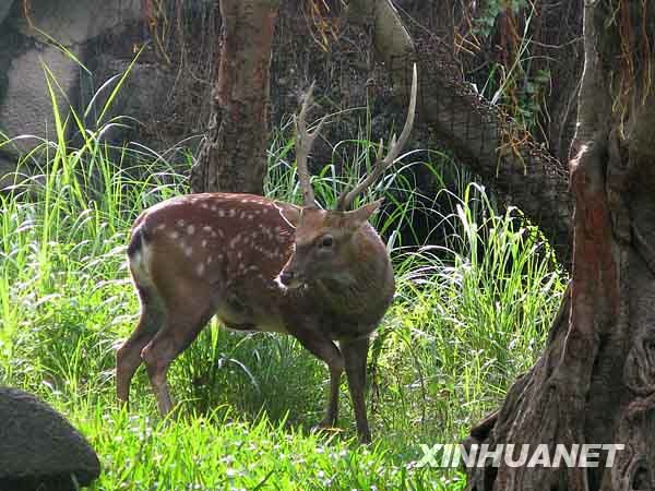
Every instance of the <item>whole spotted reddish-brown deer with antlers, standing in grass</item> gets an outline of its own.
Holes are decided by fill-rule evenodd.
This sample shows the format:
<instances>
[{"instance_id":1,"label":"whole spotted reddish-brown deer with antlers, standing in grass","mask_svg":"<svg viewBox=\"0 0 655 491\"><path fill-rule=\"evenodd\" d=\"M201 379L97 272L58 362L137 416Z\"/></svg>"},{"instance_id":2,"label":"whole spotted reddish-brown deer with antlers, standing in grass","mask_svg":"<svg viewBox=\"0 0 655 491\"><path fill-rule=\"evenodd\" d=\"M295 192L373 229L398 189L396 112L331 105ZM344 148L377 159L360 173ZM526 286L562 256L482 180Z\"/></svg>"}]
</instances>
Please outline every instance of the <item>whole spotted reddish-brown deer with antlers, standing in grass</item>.
<instances>
[{"instance_id":1,"label":"whole spotted reddish-brown deer with antlers, standing in grass","mask_svg":"<svg viewBox=\"0 0 655 491\"><path fill-rule=\"evenodd\" d=\"M373 170L336 209L315 205L307 158L325 118L307 127L311 88L295 118L303 206L231 193L190 194L157 204L135 220L128 247L141 318L117 351L119 400L143 362L159 411L172 403L166 372L216 315L228 328L286 333L330 370L330 397L320 427L336 423L346 372L357 433L370 441L365 407L369 337L392 301L394 274L384 242L368 223L380 201L348 211L355 197L397 159L416 107L416 68L407 119Z\"/></svg>"}]
</instances>

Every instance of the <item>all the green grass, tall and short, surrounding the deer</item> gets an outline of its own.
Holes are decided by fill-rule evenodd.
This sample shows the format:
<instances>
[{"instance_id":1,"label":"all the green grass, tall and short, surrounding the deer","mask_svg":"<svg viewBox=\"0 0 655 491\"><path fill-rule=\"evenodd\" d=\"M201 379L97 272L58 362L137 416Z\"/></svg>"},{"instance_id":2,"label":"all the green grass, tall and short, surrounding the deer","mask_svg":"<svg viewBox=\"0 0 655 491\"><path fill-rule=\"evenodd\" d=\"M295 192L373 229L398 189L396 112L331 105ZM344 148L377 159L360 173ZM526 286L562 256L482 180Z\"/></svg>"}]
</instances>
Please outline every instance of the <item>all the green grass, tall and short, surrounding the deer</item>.
<instances>
[{"instance_id":1,"label":"all the green grass, tall and short, surrounding the deer","mask_svg":"<svg viewBox=\"0 0 655 491\"><path fill-rule=\"evenodd\" d=\"M420 443L462 439L538 356L565 278L536 229L514 211L498 214L475 184L419 196L410 173L398 171L372 191L388 196L377 226L398 279L369 358L372 445L354 442L345 382L342 430L311 433L327 373L293 338L214 324L174 363L178 419L166 422L143 370L130 411L118 408L112 369L139 311L124 260L130 225L143 208L187 191L176 169L189 161L142 152L126 167L133 153L100 140L116 120L84 131L72 148L66 127L81 129L79 121L58 118L55 141L35 152L46 157L41 176L0 195L0 382L38 394L87 435L104 469L93 489L464 488L455 470L413 463ZM275 133L266 192L299 201L291 144L288 127ZM340 145L349 148L346 176L369 165L366 133ZM407 166L430 166L439 181L452 164L432 156ZM314 177L322 203L347 180L335 169ZM437 202L453 212L439 214ZM420 214L440 224L439 246L403 243Z\"/></svg>"}]
</instances>

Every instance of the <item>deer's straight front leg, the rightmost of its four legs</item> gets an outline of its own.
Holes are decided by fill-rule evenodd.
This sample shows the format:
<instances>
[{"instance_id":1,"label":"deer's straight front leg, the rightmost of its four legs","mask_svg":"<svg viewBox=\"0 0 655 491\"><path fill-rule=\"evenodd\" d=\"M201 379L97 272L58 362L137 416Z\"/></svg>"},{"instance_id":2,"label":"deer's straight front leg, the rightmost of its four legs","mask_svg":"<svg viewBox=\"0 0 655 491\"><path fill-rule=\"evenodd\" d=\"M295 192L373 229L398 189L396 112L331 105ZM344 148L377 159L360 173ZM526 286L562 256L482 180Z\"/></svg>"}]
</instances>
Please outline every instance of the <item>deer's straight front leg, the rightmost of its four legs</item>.
<instances>
[{"instance_id":1,"label":"deer's straight front leg, the rightmost of its four legs","mask_svg":"<svg viewBox=\"0 0 655 491\"><path fill-rule=\"evenodd\" d=\"M355 419L357 420L357 435L359 436L359 441L361 443L369 443L371 441L371 432L368 427L366 403L364 399L368 346L368 336L340 343L340 347L346 363L348 390L353 399Z\"/></svg>"}]
</instances>

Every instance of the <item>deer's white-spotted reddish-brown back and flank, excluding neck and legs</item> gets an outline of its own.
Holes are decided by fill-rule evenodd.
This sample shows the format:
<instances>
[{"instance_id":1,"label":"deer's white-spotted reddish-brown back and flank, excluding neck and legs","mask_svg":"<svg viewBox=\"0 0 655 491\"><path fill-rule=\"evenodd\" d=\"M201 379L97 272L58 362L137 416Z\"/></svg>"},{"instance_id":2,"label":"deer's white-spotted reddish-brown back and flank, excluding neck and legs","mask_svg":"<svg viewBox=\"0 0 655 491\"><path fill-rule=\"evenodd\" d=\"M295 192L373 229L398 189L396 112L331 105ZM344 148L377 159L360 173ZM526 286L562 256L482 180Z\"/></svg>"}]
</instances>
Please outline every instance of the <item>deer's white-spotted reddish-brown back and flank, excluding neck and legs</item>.
<instances>
[{"instance_id":1,"label":"deer's white-spotted reddish-brown back and flank, excluding neck and legs","mask_svg":"<svg viewBox=\"0 0 655 491\"><path fill-rule=\"evenodd\" d=\"M249 194L167 200L134 224L132 275L138 285L153 286L166 304L209 300L227 327L285 331L283 292L274 279L291 252L288 220L298 213L294 205Z\"/></svg>"}]
</instances>

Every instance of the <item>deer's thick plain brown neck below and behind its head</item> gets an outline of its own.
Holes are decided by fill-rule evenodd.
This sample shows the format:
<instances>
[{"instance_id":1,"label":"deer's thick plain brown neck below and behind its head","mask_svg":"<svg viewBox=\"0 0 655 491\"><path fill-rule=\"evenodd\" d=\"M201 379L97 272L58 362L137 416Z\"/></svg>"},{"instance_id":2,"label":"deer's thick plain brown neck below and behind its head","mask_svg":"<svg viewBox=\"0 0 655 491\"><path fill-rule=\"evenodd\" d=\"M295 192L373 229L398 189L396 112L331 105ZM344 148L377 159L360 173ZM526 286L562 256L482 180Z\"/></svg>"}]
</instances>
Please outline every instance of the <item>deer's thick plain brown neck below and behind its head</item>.
<instances>
[{"instance_id":1,"label":"deer's thick plain brown neck below and behind its head","mask_svg":"<svg viewBox=\"0 0 655 491\"><path fill-rule=\"evenodd\" d=\"M354 243L347 271L315 284L323 304L340 318L377 323L395 290L393 270L384 243L372 227Z\"/></svg>"}]
</instances>

